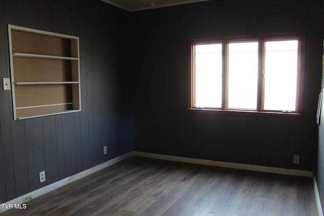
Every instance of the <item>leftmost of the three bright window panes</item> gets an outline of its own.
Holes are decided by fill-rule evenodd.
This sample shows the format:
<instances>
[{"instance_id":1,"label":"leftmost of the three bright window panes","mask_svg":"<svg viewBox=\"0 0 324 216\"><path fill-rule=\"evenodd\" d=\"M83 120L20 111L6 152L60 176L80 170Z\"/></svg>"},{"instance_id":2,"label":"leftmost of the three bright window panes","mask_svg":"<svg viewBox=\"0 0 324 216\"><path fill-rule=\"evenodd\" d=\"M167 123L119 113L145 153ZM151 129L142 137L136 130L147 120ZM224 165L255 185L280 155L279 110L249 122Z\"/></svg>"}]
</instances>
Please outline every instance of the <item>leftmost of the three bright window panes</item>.
<instances>
[{"instance_id":1,"label":"leftmost of the three bright window panes","mask_svg":"<svg viewBox=\"0 0 324 216\"><path fill-rule=\"evenodd\" d=\"M222 44L195 45L195 106L222 106Z\"/></svg>"}]
</instances>

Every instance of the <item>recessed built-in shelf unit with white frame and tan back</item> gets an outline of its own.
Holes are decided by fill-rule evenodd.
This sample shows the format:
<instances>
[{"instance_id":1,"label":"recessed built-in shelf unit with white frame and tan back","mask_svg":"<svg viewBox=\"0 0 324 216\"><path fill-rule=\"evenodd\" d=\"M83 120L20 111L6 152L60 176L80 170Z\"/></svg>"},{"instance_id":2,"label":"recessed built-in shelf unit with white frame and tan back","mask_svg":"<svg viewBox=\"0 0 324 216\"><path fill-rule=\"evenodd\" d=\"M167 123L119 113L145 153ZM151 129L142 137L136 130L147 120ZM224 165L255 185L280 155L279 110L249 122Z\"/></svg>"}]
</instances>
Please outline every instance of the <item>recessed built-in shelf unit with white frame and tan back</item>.
<instances>
[{"instance_id":1,"label":"recessed built-in shelf unit with white frame and tan back","mask_svg":"<svg viewBox=\"0 0 324 216\"><path fill-rule=\"evenodd\" d=\"M14 120L81 110L79 38L8 25Z\"/></svg>"}]
</instances>

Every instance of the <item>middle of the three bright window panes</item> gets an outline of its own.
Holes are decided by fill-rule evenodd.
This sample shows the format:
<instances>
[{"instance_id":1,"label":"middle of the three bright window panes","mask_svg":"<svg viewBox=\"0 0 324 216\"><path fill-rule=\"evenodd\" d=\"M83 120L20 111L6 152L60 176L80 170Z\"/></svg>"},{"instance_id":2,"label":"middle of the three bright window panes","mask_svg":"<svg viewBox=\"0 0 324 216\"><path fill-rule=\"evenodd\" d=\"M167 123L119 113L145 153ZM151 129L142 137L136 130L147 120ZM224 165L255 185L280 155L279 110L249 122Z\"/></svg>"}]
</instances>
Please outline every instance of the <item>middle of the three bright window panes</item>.
<instances>
[{"instance_id":1,"label":"middle of the three bright window panes","mask_svg":"<svg viewBox=\"0 0 324 216\"><path fill-rule=\"evenodd\" d=\"M228 44L228 108L257 109L258 45Z\"/></svg>"}]
</instances>

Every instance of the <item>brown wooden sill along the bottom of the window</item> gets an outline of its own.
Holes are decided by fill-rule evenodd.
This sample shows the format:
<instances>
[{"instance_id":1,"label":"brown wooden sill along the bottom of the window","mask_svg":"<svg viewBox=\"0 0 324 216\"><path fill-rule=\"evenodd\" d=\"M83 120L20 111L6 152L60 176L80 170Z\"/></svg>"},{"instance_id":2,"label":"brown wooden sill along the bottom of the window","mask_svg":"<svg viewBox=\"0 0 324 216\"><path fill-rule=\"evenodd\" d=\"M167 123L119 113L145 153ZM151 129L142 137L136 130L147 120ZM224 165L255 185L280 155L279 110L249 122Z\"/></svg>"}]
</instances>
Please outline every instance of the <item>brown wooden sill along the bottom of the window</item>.
<instances>
[{"instance_id":1,"label":"brown wooden sill along the bottom of the window","mask_svg":"<svg viewBox=\"0 0 324 216\"><path fill-rule=\"evenodd\" d=\"M251 111L251 110L217 110L217 109L188 108L187 112L191 114L239 115L239 116L288 118L288 119L302 119L303 117L303 115L300 113L258 112L258 111Z\"/></svg>"}]
</instances>

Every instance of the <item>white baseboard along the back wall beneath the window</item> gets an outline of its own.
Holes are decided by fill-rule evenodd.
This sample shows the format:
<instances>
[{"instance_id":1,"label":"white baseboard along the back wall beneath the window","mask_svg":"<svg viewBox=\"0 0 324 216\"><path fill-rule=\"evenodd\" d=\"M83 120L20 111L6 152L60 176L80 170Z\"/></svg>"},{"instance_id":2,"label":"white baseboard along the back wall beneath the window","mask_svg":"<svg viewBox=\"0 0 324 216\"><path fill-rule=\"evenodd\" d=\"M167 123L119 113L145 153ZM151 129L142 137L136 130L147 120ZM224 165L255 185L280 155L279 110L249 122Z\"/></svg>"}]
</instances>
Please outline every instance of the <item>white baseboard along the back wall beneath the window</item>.
<instances>
[{"instance_id":1,"label":"white baseboard along the back wall beneath the window","mask_svg":"<svg viewBox=\"0 0 324 216\"><path fill-rule=\"evenodd\" d=\"M179 157L179 156L171 156L171 155L164 155L164 154L153 154L153 153L138 152L138 151L133 151L133 155L139 157L161 159L161 160L171 160L171 161L178 161L178 162L185 162L185 163L219 166L225 168L270 172L274 174L284 174L284 175L291 175L291 176L303 176L303 177L310 177L310 178L313 176L313 172L307 170L286 169L286 168L277 168L277 167L270 167L270 166L259 166L259 165L251 165L251 164L205 160L205 159Z\"/></svg>"}]
</instances>

